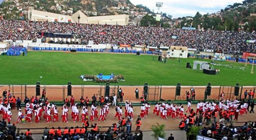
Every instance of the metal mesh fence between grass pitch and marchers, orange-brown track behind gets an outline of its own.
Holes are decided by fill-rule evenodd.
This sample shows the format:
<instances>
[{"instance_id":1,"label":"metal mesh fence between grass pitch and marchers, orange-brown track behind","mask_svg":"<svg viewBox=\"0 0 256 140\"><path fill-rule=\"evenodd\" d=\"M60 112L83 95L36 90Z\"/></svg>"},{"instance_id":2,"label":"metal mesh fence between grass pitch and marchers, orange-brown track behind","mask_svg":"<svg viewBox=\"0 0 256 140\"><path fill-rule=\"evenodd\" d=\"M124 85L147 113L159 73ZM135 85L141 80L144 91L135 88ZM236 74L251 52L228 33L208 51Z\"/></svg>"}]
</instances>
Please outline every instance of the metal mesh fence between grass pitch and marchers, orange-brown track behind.
<instances>
[{"instance_id":1,"label":"metal mesh fence between grass pitch and marchers, orange-brown track behind","mask_svg":"<svg viewBox=\"0 0 256 140\"><path fill-rule=\"evenodd\" d=\"M110 86L110 96L118 94L118 89L122 89L124 92L124 101L131 100L133 102L140 102L136 100L135 89L139 89L139 96L142 95L143 86ZM176 96L176 86L148 86L148 101L160 101L160 100L186 100L186 91L190 91L193 88L196 93L196 100L204 99L204 92L206 86L181 86L180 96ZM220 100L220 94L225 93L225 98L228 100L234 100L236 98L243 99L245 90L252 90L255 93L255 86L240 86L239 96L234 96L234 86L212 86L211 95L208 96L210 100ZM35 85L0 85L0 92L4 90L10 90L11 94L16 98L19 97L22 100L25 97L35 96ZM51 101L63 101L67 97L68 87L67 85L41 85L40 91L45 89L46 98ZM93 95L98 97L104 96L105 85L72 85L72 95L76 101L79 101L81 96L88 97L91 101ZM248 98L248 96L247 96ZM191 99L191 96L190 96ZM98 99L97 99L98 100Z\"/></svg>"}]
</instances>

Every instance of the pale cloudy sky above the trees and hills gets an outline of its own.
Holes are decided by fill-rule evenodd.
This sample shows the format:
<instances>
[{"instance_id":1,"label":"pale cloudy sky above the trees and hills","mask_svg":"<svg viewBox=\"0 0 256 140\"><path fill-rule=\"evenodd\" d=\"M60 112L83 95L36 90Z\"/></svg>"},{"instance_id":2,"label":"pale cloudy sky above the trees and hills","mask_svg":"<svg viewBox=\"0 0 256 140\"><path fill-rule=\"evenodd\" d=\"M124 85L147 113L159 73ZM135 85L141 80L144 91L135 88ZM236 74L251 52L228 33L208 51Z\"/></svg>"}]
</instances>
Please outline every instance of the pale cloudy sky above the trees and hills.
<instances>
[{"instance_id":1,"label":"pale cloudy sky above the trees and hills","mask_svg":"<svg viewBox=\"0 0 256 140\"><path fill-rule=\"evenodd\" d=\"M156 2L162 2L163 6L160 12L172 15L172 18L195 16L197 12L200 14L211 14L221 9L225 9L227 5L233 3L241 3L244 0L130 0L134 5L142 4L157 13Z\"/></svg>"}]
</instances>

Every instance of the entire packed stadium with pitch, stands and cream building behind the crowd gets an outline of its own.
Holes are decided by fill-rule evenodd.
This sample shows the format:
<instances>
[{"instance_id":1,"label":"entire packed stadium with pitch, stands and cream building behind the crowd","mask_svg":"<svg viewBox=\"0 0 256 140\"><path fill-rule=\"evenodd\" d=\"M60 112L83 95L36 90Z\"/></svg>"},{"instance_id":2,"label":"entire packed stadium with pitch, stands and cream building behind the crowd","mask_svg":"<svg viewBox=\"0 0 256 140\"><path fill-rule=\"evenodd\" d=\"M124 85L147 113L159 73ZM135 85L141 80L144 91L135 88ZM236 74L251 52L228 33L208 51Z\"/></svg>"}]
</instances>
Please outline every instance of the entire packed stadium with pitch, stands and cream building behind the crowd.
<instances>
[{"instance_id":1,"label":"entire packed stadium with pitch, stands and cream building behind the crowd","mask_svg":"<svg viewBox=\"0 0 256 140\"><path fill-rule=\"evenodd\" d=\"M184 136L198 126L212 132L201 133L204 139L242 137L244 132L255 138L255 115L249 110L256 88L254 32L129 26L127 15L87 17L81 11L72 16L28 13L29 20L0 20L1 117L22 132L41 135L48 127L43 139L95 139L90 134L99 138L101 132L117 139L127 138L122 133L130 135L131 128L137 138L142 134L138 126L148 131L159 123L170 130L189 121L190 129L181 128ZM183 107L189 117L184 118ZM190 124L190 118L198 120ZM86 126L85 120L93 124ZM71 126L77 131L65 134L63 129ZM82 133L83 126L89 132ZM233 126L240 132L230 131Z\"/></svg>"}]
</instances>

